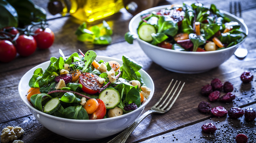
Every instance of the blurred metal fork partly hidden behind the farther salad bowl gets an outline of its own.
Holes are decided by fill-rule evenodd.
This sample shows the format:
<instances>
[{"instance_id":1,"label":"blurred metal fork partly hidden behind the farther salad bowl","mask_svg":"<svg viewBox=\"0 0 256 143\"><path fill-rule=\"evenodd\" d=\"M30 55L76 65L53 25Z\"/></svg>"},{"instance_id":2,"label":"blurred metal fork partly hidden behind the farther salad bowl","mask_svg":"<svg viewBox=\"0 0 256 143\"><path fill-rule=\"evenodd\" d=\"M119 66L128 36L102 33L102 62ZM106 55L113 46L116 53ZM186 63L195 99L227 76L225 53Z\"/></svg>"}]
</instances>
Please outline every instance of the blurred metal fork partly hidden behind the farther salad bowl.
<instances>
[{"instance_id":1,"label":"blurred metal fork partly hidden behind the farther salad bowl","mask_svg":"<svg viewBox=\"0 0 256 143\"><path fill-rule=\"evenodd\" d=\"M237 7L238 7L238 12L239 12L239 18L240 21L244 22L244 20L242 19L242 10L241 10L241 2L236 2L234 1L234 11L232 10L233 3L232 1L229 3L229 11L230 13L233 13L235 16L237 16ZM237 56L238 58L245 58L245 56L247 56L248 51L245 48L244 43L242 43L237 50L235 51L235 56Z\"/></svg>"}]
</instances>

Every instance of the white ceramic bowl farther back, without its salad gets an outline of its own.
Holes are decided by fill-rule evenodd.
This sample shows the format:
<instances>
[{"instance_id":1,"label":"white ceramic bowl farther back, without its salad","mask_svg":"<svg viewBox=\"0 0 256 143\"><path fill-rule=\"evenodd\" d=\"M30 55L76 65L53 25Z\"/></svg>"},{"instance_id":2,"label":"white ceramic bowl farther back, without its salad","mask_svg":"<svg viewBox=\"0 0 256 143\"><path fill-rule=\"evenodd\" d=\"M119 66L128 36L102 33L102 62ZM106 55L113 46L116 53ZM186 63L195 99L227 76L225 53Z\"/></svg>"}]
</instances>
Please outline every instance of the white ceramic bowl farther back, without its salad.
<instances>
[{"instance_id":1,"label":"white ceramic bowl farther back, without its salad","mask_svg":"<svg viewBox=\"0 0 256 143\"><path fill-rule=\"evenodd\" d=\"M140 15L152 11L159 11L163 8L168 8L171 5L160 6L144 10L134 16L129 23L129 31L132 33L138 33L137 28L141 21ZM243 31L248 35L248 28L243 21L240 21L238 17L220 10L225 16L230 18L231 21L236 21L241 25ZM229 48L217 51L208 52L187 52L187 51L176 51L171 49L161 48L152 45L137 38L141 49L144 53L155 63L160 65L166 70L179 72L179 73L201 73L209 71L215 67L218 67L230 58L236 51L237 47L245 41L245 39Z\"/></svg>"}]
</instances>

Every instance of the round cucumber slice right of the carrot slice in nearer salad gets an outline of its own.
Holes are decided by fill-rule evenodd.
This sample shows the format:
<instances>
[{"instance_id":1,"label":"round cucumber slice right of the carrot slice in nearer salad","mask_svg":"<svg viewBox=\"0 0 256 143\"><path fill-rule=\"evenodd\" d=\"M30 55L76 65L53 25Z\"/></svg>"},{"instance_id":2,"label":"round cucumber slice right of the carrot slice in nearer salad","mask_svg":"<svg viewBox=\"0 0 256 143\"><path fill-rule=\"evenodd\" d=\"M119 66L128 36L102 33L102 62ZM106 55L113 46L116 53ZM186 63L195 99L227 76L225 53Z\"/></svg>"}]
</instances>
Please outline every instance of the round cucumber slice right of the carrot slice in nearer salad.
<instances>
[{"instance_id":1,"label":"round cucumber slice right of the carrot slice in nearer salad","mask_svg":"<svg viewBox=\"0 0 256 143\"><path fill-rule=\"evenodd\" d=\"M113 109L120 103L120 94L114 88L106 88L99 94L99 99L101 99L107 109Z\"/></svg>"}]
</instances>

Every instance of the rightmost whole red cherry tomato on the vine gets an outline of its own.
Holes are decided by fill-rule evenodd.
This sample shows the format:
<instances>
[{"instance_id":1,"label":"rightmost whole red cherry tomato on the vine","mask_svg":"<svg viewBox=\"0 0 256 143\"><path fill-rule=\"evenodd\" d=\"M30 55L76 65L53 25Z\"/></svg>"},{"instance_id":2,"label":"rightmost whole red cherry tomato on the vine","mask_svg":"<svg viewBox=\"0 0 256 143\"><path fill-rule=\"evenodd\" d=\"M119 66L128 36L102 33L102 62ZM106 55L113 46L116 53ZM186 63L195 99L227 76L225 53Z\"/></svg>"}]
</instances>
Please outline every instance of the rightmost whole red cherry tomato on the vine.
<instances>
[{"instance_id":1,"label":"rightmost whole red cherry tomato on the vine","mask_svg":"<svg viewBox=\"0 0 256 143\"><path fill-rule=\"evenodd\" d=\"M55 37L50 28L45 28L44 30L39 28L35 31L34 38L39 49L47 49L52 46Z\"/></svg>"}]
</instances>

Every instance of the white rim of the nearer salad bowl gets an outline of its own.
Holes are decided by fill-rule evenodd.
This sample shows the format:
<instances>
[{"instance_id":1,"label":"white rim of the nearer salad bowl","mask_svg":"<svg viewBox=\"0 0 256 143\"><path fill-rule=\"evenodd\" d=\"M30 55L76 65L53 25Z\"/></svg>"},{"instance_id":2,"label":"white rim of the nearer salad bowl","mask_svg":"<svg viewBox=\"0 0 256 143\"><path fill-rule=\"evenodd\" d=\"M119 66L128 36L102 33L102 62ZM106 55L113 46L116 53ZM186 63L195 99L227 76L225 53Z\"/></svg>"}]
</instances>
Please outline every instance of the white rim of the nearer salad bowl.
<instances>
[{"instance_id":1,"label":"white rim of the nearer salad bowl","mask_svg":"<svg viewBox=\"0 0 256 143\"><path fill-rule=\"evenodd\" d=\"M80 58L81 57L83 57L82 55L79 55L80 56ZM66 57L69 57L69 56L66 56ZM107 58L107 59L110 59L110 60L116 60L120 65L121 65L121 63L123 63L123 61L122 60L120 60L120 59L117 59L117 58L114 58L114 57L108 57L108 56L96 56L96 59L102 59L102 58ZM109 61L110 61L109 60ZM105 60L104 60L105 61ZM107 62L107 61L105 61L105 62ZM51 118L51 119L56 119L56 120L59 120L59 121L64 121L64 122L77 122L77 123L87 123L87 122L108 122L108 121L111 121L111 120L118 120L118 119L123 119L123 118L126 118L126 117L129 117L130 115L133 115L133 114L135 114L135 113L137 113L137 111L139 111L139 110L143 110L144 109L144 107L147 105L147 103L152 99L152 97L153 97L153 93L154 93L154 90L155 90L155 87L154 87L154 82L153 82L153 80L152 80L152 78L149 76L149 74L146 72L146 71L144 71L143 69L140 69L139 70L139 73L141 73L141 72L143 72L143 74L145 74L149 79L149 81L150 81L150 83L152 84L152 88L150 88L151 89L151 93L150 93L150 96L146 99L146 101L144 102L144 103L142 103L140 106L139 106L139 108L137 108L136 110L134 110L134 111L131 111L131 112L129 112L129 113L126 113L126 114L123 114L123 115L121 115L121 116L117 116L117 117L112 117L112 118L105 118L105 119L95 119L95 120L80 120L80 119L67 119L67 118L61 118L61 117L56 117L56 116L53 116L53 115L50 115L50 114L47 114L47 113L44 113L44 112L42 112L42 111L39 111L39 110L37 110L35 107L33 107L32 106L32 104L31 103L29 103L28 101L26 101L27 100L27 98L25 97L25 98L23 98L23 96L26 96L26 94L27 93L22 93L22 84L24 84L23 83L23 80L25 79L25 78L28 78L27 76L30 76L29 75L29 72L33 72L35 69L37 69L37 68L40 68L40 67L42 67L43 65L45 65L45 64L47 64L47 65L49 65L49 63L50 63L50 60L49 61L46 61L46 62L43 62L43 63L41 63L41 64L39 64L39 65L36 65L36 66L34 66L32 69L30 69L29 71L27 71L23 76L22 76L22 78L20 79L20 82L19 82L19 84L18 84L18 92L19 92L19 97L21 98L21 100L29 107L29 109L30 110L33 110L34 112L36 112L36 113L38 113L38 114L42 114L43 116L45 116L45 117L47 117L47 118ZM32 77L32 75L30 76L30 78ZM143 79L144 80L144 79ZM28 86L28 83L27 83L27 85L26 86ZM147 85L146 85L147 86ZM29 87L29 86L28 86Z\"/></svg>"}]
</instances>

